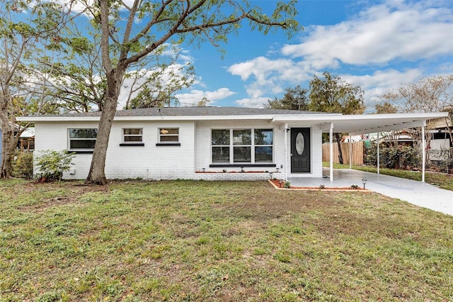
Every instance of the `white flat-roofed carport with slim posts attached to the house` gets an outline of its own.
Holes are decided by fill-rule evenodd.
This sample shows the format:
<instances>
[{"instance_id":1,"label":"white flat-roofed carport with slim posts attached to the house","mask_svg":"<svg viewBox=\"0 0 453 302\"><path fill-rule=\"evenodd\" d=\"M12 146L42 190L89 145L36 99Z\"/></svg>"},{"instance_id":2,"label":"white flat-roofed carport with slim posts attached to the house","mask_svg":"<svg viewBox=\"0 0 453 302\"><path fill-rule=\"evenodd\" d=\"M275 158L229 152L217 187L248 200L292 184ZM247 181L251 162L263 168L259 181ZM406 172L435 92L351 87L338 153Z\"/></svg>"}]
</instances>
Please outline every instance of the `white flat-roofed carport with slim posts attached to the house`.
<instances>
[{"instance_id":1,"label":"white flat-roofed carport with slim posts attached to the house","mask_svg":"<svg viewBox=\"0 0 453 302\"><path fill-rule=\"evenodd\" d=\"M440 113L391 113L391 114L367 114L367 115L309 115L304 116L275 116L273 121L285 123L297 122L299 125L313 125L318 123L323 133L330 134L330 173L329 178L333 181L333 133L349 133L350 135L362 135L369 133L381 133L391 130L402 130L408 128L422 128L422 147L425 150L425 126L426 121L436 118L446 118L447 112ZM378 144L379 147L379 144ZM287 156L286 156L287 157ZM379 157L378 157L379 158ZM425 152L422 152L422 181L425 181ZM378 164L379 169L379 164ZM379 171L379 170L378 170Z\"/></svg>"}]
</instances>

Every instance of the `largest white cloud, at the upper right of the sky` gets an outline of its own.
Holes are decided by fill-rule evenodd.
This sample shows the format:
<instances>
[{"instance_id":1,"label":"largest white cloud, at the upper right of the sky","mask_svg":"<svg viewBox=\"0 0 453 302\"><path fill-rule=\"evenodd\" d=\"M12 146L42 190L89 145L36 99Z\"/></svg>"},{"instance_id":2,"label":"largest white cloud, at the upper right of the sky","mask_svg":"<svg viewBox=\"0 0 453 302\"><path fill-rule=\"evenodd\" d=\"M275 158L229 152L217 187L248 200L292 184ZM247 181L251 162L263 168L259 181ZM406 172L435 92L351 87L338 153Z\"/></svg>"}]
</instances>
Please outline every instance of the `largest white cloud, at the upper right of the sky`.
<instances>
[{"instance_id":1,"label":"largest white cloud, at the upper right of the sky","mask_svg":"<svg viewBox=\"0 0 453 302\"><path fill-rule=\"evenodd\" d=\"M453 52L452 11L422 4L387 2L355 20L307 29L303 42L285 45L282 54L303 57L317 69L338 67L339 62L386 65Z\"/></svg>"}]
</instances>

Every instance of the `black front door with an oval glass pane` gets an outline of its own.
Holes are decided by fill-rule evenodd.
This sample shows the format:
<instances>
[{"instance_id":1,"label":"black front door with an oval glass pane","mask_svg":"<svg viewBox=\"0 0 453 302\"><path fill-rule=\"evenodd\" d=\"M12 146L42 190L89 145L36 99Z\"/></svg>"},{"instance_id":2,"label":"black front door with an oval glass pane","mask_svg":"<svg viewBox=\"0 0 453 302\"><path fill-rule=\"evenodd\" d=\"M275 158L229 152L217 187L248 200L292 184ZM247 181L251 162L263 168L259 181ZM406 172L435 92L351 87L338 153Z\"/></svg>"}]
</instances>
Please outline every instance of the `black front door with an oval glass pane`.
<instances>
[{"instance_id":1,"label":"black front door with an oval glass pane","mask_svg":"<svg viewBox=\"0 0 453 302\"><path fill-rule=\"evenodd\" d=\"M291 172L310 172L310 128L291 128Z\"/></svg>"}]
</instances>

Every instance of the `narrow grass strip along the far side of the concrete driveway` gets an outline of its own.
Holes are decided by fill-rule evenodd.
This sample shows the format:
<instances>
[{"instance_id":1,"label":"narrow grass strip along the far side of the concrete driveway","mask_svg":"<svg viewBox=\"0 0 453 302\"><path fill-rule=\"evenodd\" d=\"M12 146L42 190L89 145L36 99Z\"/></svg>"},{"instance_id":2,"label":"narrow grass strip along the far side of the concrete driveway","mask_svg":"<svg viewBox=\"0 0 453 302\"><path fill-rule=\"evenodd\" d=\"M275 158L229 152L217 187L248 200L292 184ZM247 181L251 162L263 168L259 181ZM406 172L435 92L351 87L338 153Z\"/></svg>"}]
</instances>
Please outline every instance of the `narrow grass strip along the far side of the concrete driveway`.
<instances>
[{"instance_id":1,"label":"narrow grass strip along the far side of the concrete driveway","mask_svg":"<svg viewBox=\"0 0 453 302\"><path fill-rule=\"evenodd\" d=\"M329 167L328 162L323 162L323 167ZM333 169L349 169L349 164L333 164ZM371 166L355 166L352 165L352 169L377 173L376 167ZM413 179L417 181L422 180L422 174L416 171L406 171L398 169L379 169L379 173L390 175L394 177L401 177L406 179ZM426 172L425 173L425 182L428 184L434 184L439 186L442 189L453 191L453 175L445 173L435 173L435 172Z\"/></svg>"}]
</instances>

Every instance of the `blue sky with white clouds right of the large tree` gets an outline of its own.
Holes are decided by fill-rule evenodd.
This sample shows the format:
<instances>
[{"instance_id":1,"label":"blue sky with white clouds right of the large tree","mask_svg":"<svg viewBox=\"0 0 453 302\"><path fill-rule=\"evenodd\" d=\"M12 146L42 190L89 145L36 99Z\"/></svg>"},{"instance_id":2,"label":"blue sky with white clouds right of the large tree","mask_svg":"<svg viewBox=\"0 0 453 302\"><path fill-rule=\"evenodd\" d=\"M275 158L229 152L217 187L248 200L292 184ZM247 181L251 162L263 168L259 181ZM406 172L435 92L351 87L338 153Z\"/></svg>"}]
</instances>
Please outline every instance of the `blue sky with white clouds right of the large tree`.
<instances>
[{"instance_id":1,"label":"blue sky with white clouds right of the large tree","mask_svg":"<svg viewBox=\"0 0 453 302\"><path fill-rule=\"evenodd\" d=\"M275 1L252 1L270 11ZM365 91L367 112L379 95L422 77L453 73L453 1L302 0L304 30L288 40L247 26L229 37L221 54L212 45L183 45L197 81L176 94L180 106L203 97L211 106L260 108L284 89L308 88L328 71Z\"/></svg>"}]
</instances>

